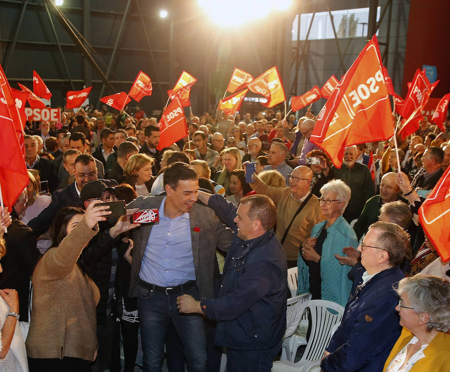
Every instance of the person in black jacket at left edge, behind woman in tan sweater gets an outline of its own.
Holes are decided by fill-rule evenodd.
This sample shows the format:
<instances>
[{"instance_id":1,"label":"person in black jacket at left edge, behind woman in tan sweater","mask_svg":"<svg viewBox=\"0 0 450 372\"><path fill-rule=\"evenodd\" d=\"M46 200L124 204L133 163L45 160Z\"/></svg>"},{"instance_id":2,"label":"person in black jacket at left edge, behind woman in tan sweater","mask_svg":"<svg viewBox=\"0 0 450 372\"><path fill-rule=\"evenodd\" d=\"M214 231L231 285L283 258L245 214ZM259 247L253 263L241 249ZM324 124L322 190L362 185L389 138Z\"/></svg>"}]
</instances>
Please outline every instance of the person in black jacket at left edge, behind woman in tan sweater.
<instances>
[{"instance_id":1,"label":"person in black jacket at left edge, behind woman in tan sweater","mask_svg":"<svg viewBox=\"0 0 450 372\"><path fill-rule=\"evenodd\" d=\"M15 289L19 296L21 321L28 319L29 277L40 256L32 230L18 219L25 210L26 192L23 191L11 212L12 223L4 234L6 254L1 258L0 288Z\"/></svg>"}]
</instances>

